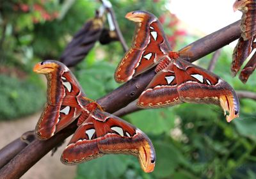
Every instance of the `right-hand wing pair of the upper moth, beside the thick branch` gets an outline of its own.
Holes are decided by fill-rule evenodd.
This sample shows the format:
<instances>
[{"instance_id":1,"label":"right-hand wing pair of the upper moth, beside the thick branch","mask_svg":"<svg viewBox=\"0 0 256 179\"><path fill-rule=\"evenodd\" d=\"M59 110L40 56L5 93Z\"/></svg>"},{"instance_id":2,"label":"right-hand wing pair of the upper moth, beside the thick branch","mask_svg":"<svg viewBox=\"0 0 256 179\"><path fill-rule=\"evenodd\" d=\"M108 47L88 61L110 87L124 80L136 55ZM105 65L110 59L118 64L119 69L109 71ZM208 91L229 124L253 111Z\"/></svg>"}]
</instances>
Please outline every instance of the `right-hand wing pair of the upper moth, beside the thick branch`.
<instances>
[{"instance_id":1,"label":"right-hand wing pair of the upper moth, beside the thick branch","mask_svg":"<svg viewBox=\"0 0 256 179\"><path fill-rule=\"evenodd\" d=\"M163 107L181 102L220 105L225 114L229 113L227 121L239 114L239 100L227 82L188 61L173 59L152 79L139 97L138 105Z\"/></svg>"}]
</instances>

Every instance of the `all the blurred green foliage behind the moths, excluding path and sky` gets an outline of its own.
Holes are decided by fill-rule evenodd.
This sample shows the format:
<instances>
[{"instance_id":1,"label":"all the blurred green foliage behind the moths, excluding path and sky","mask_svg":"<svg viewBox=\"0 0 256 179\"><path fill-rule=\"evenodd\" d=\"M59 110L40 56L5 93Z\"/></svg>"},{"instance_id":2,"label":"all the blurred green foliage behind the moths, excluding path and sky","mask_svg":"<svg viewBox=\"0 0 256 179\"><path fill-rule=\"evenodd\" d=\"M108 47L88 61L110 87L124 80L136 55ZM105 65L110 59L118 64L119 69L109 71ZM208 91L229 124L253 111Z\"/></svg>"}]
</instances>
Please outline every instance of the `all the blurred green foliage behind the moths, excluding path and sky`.
<instances>
[{"instance_id":1,"label":"all the blurred green foliage behind the moths, excluding path and sky","mask_svg":"<svg viewBox=\"0 0 256 179\"><path fill-rule=\"evenodd\" d=\"M71 36L100 6L97 1L90 0L47 1L43 4L47 13L61 14L60 18L51 20L44 19L36 10L13 11L15 4L28 4L33 9L40 2L13 0L3 3L0 12L1 65L19 66L29 74L35 61L58 59ZM167 1L153 2L111 0L128 45L131 45L134 24L124 18L125 14L132 10L147 10L163 17L168 12L165 8ZM172 35L175 28L170 27L172 18L168 15L164 18L164 31ZM196 39L196 36L187 36L177 48ZM99 53L104 55L99 56ZM88 97L97 99L118 87L113 74L123 55L119 42L104 46L97 43L85 60L72 69ZM256 91L256 73L246 85L237 77L231 77L231 57L232 49L224 48L214 73L235 89ZM207 68L211 58L212 54L209 54L196 61L196 65ZM1 119L16 118L42 107L45 93L40 89L37 76L30 76L28 80L19 81L0 75ZM240 102L241 115L231 123L225 121L220 107L203 104L180 104L124 116L152 140L157 154L155 171L143 173L138 160L132 156L106 155L80 164L76 178L255 178L255 101L243 99Z\"/></svg>"}]
</instances>

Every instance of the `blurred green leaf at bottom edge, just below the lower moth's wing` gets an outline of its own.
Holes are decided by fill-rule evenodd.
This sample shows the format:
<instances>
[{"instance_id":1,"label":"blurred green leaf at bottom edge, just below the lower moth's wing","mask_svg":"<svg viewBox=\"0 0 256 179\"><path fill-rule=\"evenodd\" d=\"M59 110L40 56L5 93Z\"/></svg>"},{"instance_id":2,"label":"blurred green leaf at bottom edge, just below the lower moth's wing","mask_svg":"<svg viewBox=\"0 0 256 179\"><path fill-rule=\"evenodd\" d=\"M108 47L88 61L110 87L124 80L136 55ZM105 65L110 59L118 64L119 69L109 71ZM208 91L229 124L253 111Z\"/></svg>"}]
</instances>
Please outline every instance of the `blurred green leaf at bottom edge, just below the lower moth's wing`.
<instances>
[{"instance_id":1,"label":"blurred green leaf at bottom edge, just below the lower moth's wing","mask_svg":"<svg viewBox=\"0 0 256 179\"><path fill-rule=\"evenodd\" d=\"M120 178L119 176L127 170L131 157L129 155L104 155L99 159L84 162L78 165L76 179Z\"/></svg>"}]
</instances>

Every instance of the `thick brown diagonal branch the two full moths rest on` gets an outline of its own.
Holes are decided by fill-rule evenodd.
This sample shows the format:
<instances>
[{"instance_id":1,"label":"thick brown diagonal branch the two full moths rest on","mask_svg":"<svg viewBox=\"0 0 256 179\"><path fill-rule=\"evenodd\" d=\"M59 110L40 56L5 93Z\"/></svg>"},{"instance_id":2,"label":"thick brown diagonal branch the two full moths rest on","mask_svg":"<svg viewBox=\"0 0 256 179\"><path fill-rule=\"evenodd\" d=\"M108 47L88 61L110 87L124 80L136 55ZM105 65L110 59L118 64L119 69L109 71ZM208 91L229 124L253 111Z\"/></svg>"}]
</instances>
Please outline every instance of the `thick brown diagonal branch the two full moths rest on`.
<instances>
[{"instance_id":1,"label":"thick brown diagonal branch the two full moths rest on","mask_svg":"<svg viewBox=\"0 0 256 179\"><path fill-rule=\"evenodd\" d=\"M240 22L230 24L211 35L205 36L180 51L180 55L189 61L195 61L211 52L220 49L228 43L236 40L240 36ZM115 89L105 97L97 100L99 104L108 113L114 113L125 107L130 102L136 100L146 88L148 82L152 80L155 72L154 69L141 74L140 76L126 82L119 88ZM18 153L8 164L0 170L0 178L20 178L28 169L48 153L54 146L61 143L66 137L70 136L76 130L76 121L67 128L58 132L54 137L47 141L35 139L24 150Z\"/></svg>"}]
</instances>

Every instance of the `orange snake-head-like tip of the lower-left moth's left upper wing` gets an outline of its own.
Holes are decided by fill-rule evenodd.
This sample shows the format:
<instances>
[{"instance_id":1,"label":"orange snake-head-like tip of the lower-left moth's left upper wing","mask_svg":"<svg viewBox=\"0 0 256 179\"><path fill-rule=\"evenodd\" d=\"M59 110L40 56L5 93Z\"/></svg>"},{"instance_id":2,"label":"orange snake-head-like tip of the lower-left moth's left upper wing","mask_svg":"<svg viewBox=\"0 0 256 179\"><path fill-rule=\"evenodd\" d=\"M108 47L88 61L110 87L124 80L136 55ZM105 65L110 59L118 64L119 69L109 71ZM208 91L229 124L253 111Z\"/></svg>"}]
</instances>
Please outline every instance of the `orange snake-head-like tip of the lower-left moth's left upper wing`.
<instances>
[{"instance_id":1,"label":"orange snake-head-like tip of the lower-left moth's left upper wing","mask_svg":"<svg viewBox=\"0 0 256 179\"><path fill-rule=\"evenodd\" d=\"M51 72L55 72L57 69L67 68L63 63L54 60L47 60L36 63L33 68L33 71L37 74L50 74ZM63 69L64 70L64 69Z\"/></svg>"}]
</instances>

